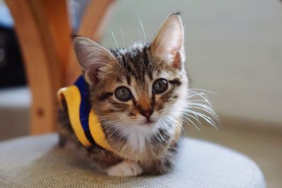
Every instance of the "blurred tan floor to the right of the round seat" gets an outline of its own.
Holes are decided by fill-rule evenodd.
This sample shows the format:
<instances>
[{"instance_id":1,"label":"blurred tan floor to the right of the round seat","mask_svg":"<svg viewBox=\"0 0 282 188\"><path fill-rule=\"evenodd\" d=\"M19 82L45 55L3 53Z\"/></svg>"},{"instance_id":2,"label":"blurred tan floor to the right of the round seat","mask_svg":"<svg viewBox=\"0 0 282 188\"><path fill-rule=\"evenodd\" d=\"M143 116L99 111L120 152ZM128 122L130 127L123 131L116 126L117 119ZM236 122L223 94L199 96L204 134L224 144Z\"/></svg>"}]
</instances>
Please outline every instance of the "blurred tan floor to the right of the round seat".
<instances>
[{"instance_id":1,"label":"blurred tan floor to the right of the round seat","mask_svg":"<svg viewBox=\"0 0 282 188\"><path fill-rule=\"evenodd\" d=\"M185 132L189 137L207 139L245 153L262 169L268 188L281 187L282 132L254 129L254 123L226 118L221 120L218 130L204 125L199 131L186 125Z\"/></svg>"}]
</instances>

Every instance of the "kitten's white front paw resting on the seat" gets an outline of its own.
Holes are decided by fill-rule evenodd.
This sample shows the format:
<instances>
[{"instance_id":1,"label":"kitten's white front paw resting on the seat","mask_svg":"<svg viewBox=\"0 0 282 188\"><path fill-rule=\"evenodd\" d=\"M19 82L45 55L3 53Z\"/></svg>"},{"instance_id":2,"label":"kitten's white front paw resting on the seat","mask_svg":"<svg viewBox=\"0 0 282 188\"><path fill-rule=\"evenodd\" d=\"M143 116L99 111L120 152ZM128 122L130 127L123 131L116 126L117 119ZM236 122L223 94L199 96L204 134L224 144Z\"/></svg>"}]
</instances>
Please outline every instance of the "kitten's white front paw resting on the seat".
<instances>
[{"instance_id":1,"label":"kitten's white front paw resting on the seat","mask_svg":"<svg viewBox=\"0 0 282 188\"><path fill-rule=\"evenodd\" d=\"M143 172L138 163L132 161L123 161L111 166L106 173L111 176L137 176Z\"/></svg>"}]
</instances>

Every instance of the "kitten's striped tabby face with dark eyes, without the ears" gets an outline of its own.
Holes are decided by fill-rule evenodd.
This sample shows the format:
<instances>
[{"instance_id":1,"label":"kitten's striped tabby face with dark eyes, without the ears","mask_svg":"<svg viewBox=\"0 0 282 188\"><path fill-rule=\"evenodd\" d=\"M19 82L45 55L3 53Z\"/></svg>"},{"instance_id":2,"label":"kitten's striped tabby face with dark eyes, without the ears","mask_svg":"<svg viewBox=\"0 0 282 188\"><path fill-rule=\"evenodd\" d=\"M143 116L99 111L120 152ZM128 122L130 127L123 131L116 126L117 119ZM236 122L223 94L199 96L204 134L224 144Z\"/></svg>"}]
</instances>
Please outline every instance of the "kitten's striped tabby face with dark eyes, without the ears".
<instances>
[{"instance_id":1,"label":"kitten's striped tabby face with dark eyes, without the ears","mask_svg":"<svg viewBox=\"0 0 282 188\"><path fill-rule=\"evenodd\" d=\"M185 104L188 87L185 70L153 56L148 44L112 53L117 61L106 66L106 74L91 87L92 103L102 121L117 125L123 134L136 130L149 135L181 113L179 103Z\"/></svg>"}]
</instances>

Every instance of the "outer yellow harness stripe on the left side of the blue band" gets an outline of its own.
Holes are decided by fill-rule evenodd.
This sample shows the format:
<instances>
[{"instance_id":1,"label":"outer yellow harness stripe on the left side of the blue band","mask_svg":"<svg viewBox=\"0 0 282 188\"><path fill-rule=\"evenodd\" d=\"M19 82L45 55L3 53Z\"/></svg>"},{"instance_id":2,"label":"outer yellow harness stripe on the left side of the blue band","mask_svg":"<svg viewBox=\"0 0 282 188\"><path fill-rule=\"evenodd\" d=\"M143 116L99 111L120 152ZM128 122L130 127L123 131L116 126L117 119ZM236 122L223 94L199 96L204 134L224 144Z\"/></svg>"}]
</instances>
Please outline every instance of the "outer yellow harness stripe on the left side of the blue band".
<instances>
[{"instance_id":1,"label":"outer yellow harness stripe on the left side of the blue band","mask_svg":"<svg viewBox=\"0 0 282 188\"><path fill-rule=\"evenodd\" d=\"M90 146L91 143L88 141L87 137L85 137L85 132L80 123L80 101L81 96L78 90L78 87L72 85L70 87L64 87L59 89L58 98L61 106L61 99L66 99L66 104L68 106L68 117L71 121L71 126L73 127L73 131L75 132L76 137L84 146Z\"/></svg>"}]
</instances>

